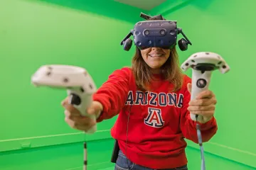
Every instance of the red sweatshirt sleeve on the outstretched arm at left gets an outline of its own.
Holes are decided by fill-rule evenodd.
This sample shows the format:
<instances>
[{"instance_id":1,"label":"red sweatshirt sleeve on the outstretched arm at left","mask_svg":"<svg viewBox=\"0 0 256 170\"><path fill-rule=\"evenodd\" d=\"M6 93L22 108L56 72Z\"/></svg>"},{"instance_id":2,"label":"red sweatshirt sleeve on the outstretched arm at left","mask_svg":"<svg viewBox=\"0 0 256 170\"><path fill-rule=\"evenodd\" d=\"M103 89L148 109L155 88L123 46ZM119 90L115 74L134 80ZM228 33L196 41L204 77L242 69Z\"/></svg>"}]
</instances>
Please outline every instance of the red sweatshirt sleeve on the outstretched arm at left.
<instances>
[{"instance_id":1,"label":"red sweatshirt sleeve on the outstretched arm at left","mask_svg":"<svg viewBox=\"0 0 256 170\"><path fill-rule=\"evenodd\" d=\"M117 69L92 96L94 101L99 101L103 106L97 123L114 117L124 106L129 91L129 74L129 68Z\"/></svg>"}]
</instances>

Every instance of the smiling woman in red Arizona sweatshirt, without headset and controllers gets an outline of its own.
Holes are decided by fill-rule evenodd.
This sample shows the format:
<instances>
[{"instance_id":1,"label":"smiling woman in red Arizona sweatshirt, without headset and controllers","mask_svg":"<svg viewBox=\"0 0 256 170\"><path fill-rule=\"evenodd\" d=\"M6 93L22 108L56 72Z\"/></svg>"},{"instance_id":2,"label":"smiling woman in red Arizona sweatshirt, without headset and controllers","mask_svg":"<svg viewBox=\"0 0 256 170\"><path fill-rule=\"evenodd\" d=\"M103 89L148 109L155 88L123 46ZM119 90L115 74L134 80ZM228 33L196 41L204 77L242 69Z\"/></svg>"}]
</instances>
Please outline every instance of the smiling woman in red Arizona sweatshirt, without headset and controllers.
<instances>
[{"instance_id":1,"label":"smiling woman in red Arizona sweatshirt, without headset and controllers","mask_svg":"<svg viewBox=\"0 0 256 170\"><path fill-rule=\"evenodd\" d=\"M186 141L198 143L196 122L189 113L203 115L203 142L217 131L215 95L203 91L190 101L191 79L181 73L176 48L137 48L132 68L114 71L93 96L87 113L97 123L118 115L111 135L120 151L115 169L187 169ZM86 131L95 124L63 101L65 121Z\"/></svg>"}]
</instances>

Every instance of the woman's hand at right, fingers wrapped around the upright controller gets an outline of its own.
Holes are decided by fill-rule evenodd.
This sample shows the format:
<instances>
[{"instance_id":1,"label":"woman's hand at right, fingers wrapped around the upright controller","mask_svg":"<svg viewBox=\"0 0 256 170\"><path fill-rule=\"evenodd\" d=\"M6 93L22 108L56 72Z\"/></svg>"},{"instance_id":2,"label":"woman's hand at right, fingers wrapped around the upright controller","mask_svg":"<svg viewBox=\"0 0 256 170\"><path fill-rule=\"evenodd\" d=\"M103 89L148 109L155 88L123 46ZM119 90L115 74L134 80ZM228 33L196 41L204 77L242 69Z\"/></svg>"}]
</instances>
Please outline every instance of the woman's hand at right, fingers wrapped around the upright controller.
<instances>
[{"instance_id":1,"label":"woman's hand at right, fingers wrapped around the upright controller","mask_svg":"<svg viewBox=\"0 0 256 170\"><path fill-rule=\"evenodd\" d=\"M191 84L188 84L188 91L191 93ZM213 91L202 91L194 100L188 103L188 111L196 115L202 115L203 119L199 122L206 123L213 118L216 103L217 100Z\"/></svg>"}]
</instances>

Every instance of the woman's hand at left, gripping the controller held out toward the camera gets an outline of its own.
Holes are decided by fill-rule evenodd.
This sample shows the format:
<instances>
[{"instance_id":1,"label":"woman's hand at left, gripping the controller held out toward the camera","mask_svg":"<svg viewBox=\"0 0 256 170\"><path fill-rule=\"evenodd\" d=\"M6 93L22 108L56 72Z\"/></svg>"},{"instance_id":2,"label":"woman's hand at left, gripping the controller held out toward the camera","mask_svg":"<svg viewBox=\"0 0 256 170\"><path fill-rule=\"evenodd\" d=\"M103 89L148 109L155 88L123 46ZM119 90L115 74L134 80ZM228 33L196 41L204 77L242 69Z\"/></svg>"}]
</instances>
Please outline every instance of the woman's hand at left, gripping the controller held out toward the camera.
<instances>
[{"instance_id":1,"label":"woman's hand at left, gripping the controller held out toward the camera","mask_svg":"<svg viewBox=\"0 0 256 170\"><path fill-rule=\"evenodd\" d=\"M65 122L68 123L71 128L86 132L96 124L95 120L90 117L81 115L77 108L70 105L68 103L68 97L61 102L61 105L63 108L65 108ZM102 110L103 106L100 102L92 101L91 106L87 108L86 112L87 114L95 115L96 118L98 118Z\"/></svg>"}]
</instances>

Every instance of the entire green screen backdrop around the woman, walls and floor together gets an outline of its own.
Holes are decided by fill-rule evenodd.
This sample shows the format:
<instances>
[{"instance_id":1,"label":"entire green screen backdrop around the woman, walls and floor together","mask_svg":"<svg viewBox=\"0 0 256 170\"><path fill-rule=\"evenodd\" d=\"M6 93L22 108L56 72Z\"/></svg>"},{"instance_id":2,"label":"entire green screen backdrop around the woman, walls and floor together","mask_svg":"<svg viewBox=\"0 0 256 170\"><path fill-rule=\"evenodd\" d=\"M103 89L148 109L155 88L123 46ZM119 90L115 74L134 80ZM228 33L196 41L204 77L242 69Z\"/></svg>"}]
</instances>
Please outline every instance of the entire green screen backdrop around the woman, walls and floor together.
<instances>
[{"instance_id":1,"label":"entire green screen backdrop around the woman, walls and floor together","mask_svg":"<svg viewBox=\"0 0 256 170\"><path fill-rule=\"evenodd\" d=\"M147 12L115 1L0 1L0 169L82 169L85 140L89 169L112 169L115 118L98 124L94 135L69 128L60 106L65 90L33 87L31 75L43 64L73 64L100 87L114 69L130 65L134 48L125 52L119 42L140 12L178 21L193 43L178 51L181 62L198 51L218 52L228 62L230 72L214 72L210 84L219 130L204 144L207 168L255 169L253 6L249 0L166 1ZM198 145L188 141L186 151L190 170L200 169Z\"/></svg>"}]
</instances>

